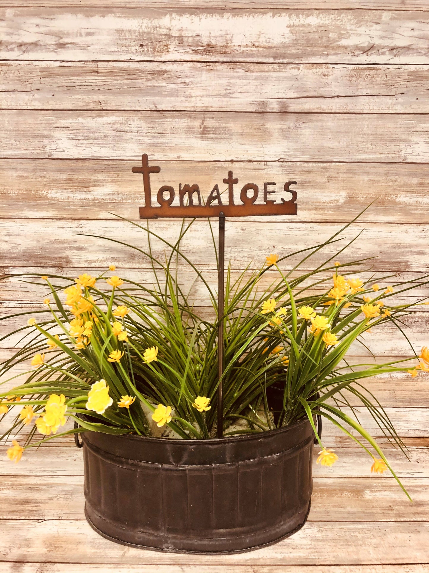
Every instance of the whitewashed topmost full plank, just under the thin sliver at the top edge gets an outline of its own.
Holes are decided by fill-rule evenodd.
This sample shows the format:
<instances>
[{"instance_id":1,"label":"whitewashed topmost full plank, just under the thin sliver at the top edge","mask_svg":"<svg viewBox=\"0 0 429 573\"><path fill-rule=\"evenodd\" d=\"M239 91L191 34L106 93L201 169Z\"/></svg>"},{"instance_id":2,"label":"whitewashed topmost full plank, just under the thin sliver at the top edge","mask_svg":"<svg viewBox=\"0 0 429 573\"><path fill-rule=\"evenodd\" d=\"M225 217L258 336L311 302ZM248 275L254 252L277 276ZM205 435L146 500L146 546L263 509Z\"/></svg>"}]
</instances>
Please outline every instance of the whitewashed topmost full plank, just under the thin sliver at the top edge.
<instances>
[{"instance_id":1,"label":"whitewashed topmost full plank, just under the thin sliver at the top edge","mask_svg":"<svg viewBox=\"0 0 429 573\"><path fill-rule=\"evenodd\" d=\"M420 11L26 7L0 19L4 60L429 63Z\"/></svg>"}]
</instances>

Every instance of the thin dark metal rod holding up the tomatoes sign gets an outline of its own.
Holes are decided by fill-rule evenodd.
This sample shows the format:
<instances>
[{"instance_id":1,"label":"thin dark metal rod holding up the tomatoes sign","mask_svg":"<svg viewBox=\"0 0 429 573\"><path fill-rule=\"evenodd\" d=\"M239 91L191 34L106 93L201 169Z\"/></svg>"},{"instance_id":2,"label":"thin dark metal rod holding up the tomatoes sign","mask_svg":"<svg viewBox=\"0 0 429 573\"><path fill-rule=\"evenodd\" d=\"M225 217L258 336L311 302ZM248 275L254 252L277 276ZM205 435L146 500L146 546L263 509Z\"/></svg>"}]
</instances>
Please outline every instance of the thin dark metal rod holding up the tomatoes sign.
<instances>
[{"instance_id":1,"label":"thin dark metal rod holding up the tomatoes sign","mask_svg":"<svg viewBox=\"0 0 429 573\"><path fill-rule=\"evenodd\" d=\"M225 214L219 213L219 273L217 283L217 379L220 380L217 387L217 437L223 437L224 433L224 399L222 392L222 374L224 372L224 270L225 270Z\"/></svg>"}]
</instances>

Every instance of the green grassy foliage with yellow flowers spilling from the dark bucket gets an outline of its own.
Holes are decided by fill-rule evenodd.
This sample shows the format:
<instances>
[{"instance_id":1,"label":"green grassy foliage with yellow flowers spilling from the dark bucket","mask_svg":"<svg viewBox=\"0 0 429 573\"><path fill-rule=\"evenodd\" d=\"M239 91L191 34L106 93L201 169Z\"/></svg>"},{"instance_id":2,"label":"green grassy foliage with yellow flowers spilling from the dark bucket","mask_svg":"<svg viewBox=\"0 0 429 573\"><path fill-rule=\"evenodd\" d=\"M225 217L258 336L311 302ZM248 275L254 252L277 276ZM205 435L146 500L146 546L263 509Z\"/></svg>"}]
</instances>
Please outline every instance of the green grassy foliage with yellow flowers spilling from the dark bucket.
<instances>
[{"instance_id":1,"label":"green grassy foliage with yellow flowers spilling from the dark bucket","mask_svg":"<svg viewBox=\"0 0 429 573\"><path fill-rule=\"evenodd\" d=\"M395 303L398 295L426 285L427 276L382 288L380 284L393 275L371 273L370 259L343 260L355 240L344 245L340 233L347 225L328 241L300 252L267 253L259 268L249 264L236 278L229 264L222 312L217 293L181 249L192 222L182 223L175 244L149 225L129 223L141 229L146 248L108 240L149 261L152 286L114 274L113 265L98 276L3 277L46 286L45 309L2 318L22 320L22 326L7 335L22 334L22 346L0 365L2 384L7 386L0 393L3 427L3 418L10 419L2 438L18 436L22 444L13 440L7 450L11 460L19 461L23 450L48 439L85 430L216 437L217 327L223 315L225 437L291 426L304 417L317 436L313 418L321 415L366 450L372 472L388 468L399 482L375 439L359 423L359 410L349 397L358 399L382 433L405 451L365 380L392 372L416 376L429 371L429 351L415 351L403 324L423 300ZM216 252L213 233L212 237ZM164 244L162 258L153 254L153 238ZM302 270L327 250L322 264ZM184 291L183 266L204 286L211 316L194 307L190 291ZM369 278L361 280L359 273ZM375 327L382 332L386 324L406 336L411 355L384 364L375 359L349 363L352 344L367 348L364 333ZM13 375L15 367L29 362L23 374ZM9 389L22 375L25 382ZM74 428L63 428L67 418L75 422ZM317 439L317 462L332 465L335 452Z\"/></svg>"}]
</instances>

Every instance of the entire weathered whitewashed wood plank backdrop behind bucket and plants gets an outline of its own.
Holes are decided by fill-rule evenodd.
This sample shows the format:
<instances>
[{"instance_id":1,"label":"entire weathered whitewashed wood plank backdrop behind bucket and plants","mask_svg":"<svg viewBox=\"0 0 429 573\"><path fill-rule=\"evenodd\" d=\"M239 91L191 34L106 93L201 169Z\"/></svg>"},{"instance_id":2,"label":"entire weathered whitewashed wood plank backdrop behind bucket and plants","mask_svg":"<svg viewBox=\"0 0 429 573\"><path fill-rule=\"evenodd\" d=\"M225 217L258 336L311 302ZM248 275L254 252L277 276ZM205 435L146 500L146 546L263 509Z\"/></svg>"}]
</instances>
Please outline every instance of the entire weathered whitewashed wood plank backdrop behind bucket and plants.
<instances>
[{"instance_id":1,"label":"entire weathered whitewashed wood plank backdrop behind bucket and plants","mask_svg":"<svg viewBox=\"0 0 429 573\"><path fill-rule=\"evenodd\" d=\"M242 183L299 182L297 217L227 222L237 270L327 238L376 199L346 233L363 230L350 256L378 256L375 270L406 278L429 272L427 0L0 0L0 12L2 274L77 276L114 262L120 274L150 281L148 261L79 236L144 241L112 215L138 217L142 181L131 167L142 152L162 167L153 189L198 182L207 194L229 169ZM173 237L178 227L153 228ZM215 284L208 240L201 221L184 246ZM3 282L2 315L41 309L44 293ZM197 286L194 296L208 304ZM416 348L429 342L427 316L408 320ZM1 323L0 336L20 321ZM410 352L388 328L367 342L377 360ZM3 340L0 358L14 344L19 338ZM340 460L315 466L309 521L291 539L209 559L137 551L86 524L81 452L54 441L16 466L2 462L0 568L428 571L429 381L386 376L368 387L410 448L407 461L380 437L414 504L325 425Z\"/></svg>"}]
</instances>

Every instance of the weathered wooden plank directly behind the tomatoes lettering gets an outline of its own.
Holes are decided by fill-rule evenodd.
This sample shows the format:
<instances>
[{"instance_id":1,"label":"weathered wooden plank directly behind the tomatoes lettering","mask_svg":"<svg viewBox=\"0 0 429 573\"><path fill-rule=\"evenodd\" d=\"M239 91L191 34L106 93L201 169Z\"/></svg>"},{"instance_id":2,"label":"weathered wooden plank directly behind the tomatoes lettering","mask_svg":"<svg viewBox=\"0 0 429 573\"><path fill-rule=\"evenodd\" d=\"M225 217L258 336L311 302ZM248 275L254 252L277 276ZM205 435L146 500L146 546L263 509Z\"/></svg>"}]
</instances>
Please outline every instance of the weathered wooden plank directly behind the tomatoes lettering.
<instances>
[{"instance_id":1,"label":"weathered wooden plank directly behind the tomatoes lettering","mask_svg":"<svg viewBox=\"0 0 429 573\"><path fill-rule=\"evenodd\" d=\"M0 161L0 218L135 219L144 205L142 177L132 173L138 158L115 160ZM228 170L242 182L275 181L277 201L283 183L297 181L298 214L293 221L349 222L372 201L362 222L427 223L429 164L180 162L160 161L151 176L153 203L161 185L196 182L204 199L216 183L225 189ZM192 180L192 181L191 181ZM236 202L240 203L236 185ZM335 215L334 215L335 213ZM394 214L394 217L392 217ZM257 218L256 220L269 220ZM252 220L252 219L250 219ZM31 222L26 222L31 225Z\"/></svg>"}]
</instances>

